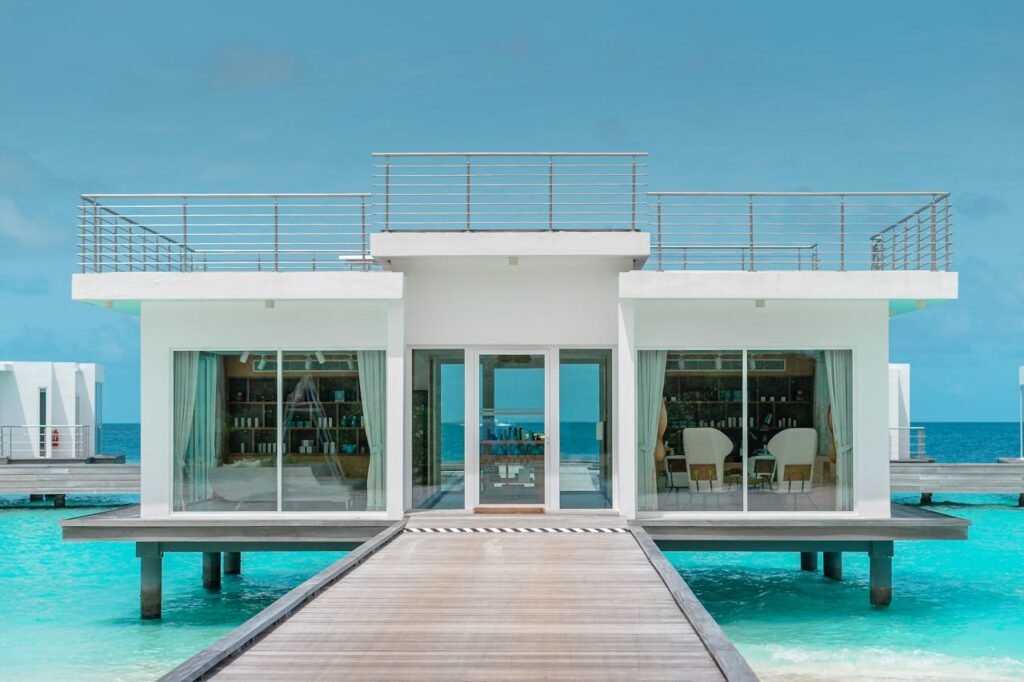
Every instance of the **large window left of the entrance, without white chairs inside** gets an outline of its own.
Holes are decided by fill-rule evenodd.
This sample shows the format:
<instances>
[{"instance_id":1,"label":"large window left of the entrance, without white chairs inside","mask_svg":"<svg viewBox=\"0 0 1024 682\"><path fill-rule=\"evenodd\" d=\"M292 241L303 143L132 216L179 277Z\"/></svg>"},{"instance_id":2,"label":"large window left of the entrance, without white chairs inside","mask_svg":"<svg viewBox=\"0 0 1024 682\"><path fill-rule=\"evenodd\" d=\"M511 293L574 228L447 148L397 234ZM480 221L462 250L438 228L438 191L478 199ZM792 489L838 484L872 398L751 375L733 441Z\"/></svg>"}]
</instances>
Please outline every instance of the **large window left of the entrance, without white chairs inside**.
<instances>
[{"instance_id":1,"label":"large window left of the entrance, without white chairs inside","mask_svg":"<svg viewBox=\"0 0 1024 682\"><path fill-rule=\"evenodd\" d=\"M384 509L384 352L174 353L174 509Z\"/></svg>"}]
</instances>

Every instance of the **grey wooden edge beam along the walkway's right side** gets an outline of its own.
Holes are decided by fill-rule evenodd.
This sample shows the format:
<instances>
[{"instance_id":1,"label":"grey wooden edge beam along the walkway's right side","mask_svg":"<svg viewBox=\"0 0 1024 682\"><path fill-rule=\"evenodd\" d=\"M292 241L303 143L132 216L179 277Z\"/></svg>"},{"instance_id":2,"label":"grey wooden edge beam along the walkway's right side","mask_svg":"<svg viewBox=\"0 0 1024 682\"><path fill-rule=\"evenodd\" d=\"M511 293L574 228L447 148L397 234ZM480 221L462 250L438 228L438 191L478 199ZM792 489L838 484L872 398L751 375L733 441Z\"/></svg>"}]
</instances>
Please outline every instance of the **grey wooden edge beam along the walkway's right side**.
<instances>
[{"instance_id":1,"label":"grey wooden edge beam along the walkway's right side","mask_svg":"<svg viewBox=\"0 0 1024 682\"><path fill-rule=\"evenodd\" d=\"M723 677L729 682L757 682L758 676L754 669L725 635L721 626L708 612L708 609L700 603L686 581L669 562L669 559L657 548L643 526L630 523L629 527L633 538L647 557L647 561L665 583L665 587L679 606L680 612L689 621L690 626L700 638Z\"/></svg>"}]
</instances>

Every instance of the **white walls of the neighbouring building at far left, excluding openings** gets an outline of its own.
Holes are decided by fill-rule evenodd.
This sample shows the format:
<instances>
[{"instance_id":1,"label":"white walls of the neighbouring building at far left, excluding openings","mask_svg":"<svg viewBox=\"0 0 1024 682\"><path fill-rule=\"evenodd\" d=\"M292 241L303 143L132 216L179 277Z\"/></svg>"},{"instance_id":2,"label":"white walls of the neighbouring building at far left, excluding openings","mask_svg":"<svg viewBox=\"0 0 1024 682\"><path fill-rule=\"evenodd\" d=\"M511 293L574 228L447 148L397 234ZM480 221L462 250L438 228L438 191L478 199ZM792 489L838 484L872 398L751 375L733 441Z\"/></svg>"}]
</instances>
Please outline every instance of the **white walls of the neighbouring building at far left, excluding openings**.
<instances>
[{"instance_id":1,"label":"white walls of the neighbouring building at far left, excluding openings","mask_svg":"<svg viewBox=\"0 0 1024 682\"><path fill-rule=\"evenodd\" d=\"M95 454L96 383L102 383L103 371L86 363L15 363L0 361L0 426L56 426L59 443L51 439L40 452L36 433L15 432L12 445L23 457L73 458ZM46 389L46 419L39 414L39 389ZM79 410L76 419L75 398ZM77 442L77 430L62 426L88 427L86 441Z\"/></svg>"}]
</instances>

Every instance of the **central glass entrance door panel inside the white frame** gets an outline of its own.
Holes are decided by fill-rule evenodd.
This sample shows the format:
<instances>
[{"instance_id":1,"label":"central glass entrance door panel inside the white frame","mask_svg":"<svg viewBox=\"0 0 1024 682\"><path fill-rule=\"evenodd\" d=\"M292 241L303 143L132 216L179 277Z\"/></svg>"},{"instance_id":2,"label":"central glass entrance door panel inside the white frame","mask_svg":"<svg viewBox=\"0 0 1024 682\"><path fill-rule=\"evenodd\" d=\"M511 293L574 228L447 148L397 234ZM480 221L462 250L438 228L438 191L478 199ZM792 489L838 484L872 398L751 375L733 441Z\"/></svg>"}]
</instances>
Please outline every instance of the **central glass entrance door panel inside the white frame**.
<instances>
[{"instance_id":1,"label":"central glass entrance door panel inside the white frame","mask_svg":"<svg viewBox=\"0 0 1024 682\"><path fill-rule=\"evenodd\" d=\"M545 355L479 355L479 502L545 503Z\"/></svg>"}]
</instances>

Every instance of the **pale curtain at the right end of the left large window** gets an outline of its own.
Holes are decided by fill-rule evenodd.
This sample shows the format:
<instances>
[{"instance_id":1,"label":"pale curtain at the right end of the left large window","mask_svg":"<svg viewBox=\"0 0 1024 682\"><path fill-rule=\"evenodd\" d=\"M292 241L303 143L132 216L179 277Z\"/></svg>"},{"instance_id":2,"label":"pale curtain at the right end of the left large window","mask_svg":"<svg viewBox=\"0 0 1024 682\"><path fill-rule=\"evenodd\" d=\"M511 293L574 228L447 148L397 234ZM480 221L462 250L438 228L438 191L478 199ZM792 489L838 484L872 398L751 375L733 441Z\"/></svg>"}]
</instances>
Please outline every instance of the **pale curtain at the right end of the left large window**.
<instances>
[{"instance_id":1,"label":"pale curtain at the right end of the left large window","mask_svg":"<svg viewBox=\"0 0 1024 682\"><path fill-rule=\"evenodd\" d=\"M386 504L387 358L383 350L360 350L359 392L362 394L362 426L370 444L367 472L367 510L383 511Z\"/></svg>"}]
</instances>

